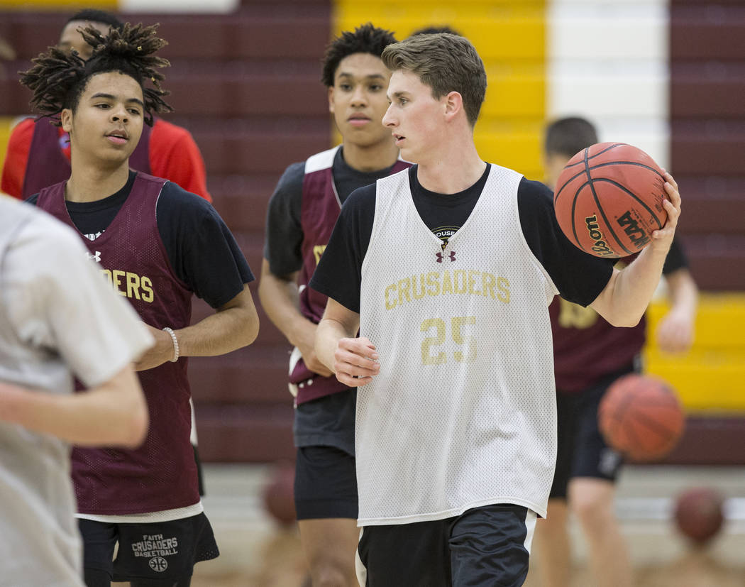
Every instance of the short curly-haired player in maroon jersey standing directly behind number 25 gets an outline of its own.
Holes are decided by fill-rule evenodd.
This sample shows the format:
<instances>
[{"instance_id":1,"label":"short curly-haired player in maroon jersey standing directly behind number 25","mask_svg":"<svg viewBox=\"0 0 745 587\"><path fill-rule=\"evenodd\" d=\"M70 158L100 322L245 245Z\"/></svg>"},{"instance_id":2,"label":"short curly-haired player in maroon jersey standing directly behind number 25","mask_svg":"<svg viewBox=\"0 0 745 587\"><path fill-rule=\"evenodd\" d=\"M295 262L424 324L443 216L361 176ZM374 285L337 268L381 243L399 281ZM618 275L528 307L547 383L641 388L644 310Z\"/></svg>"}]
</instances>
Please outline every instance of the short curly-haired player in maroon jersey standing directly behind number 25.
<instances>
[{"instance_id":1,"label":"short curly-haired player in maroon jersey standing directly behind number 25","mask_svg":"<svg viewBox=\"0 0 745 587\"><path fill-rule=\"evenodd\" d=\"M381 124L390 72L383 49L396 42L370 23L345 31L326 48L321 81L342 144L290 165L267 212L259 296L270 320L295 347L295 504L314 586L355 580L357 480L356 391L337 381L313 348L326 296L308 288L340 206L356 188L408 167Z\"/></svg>"}]
</instances>

